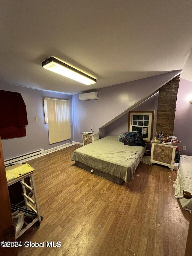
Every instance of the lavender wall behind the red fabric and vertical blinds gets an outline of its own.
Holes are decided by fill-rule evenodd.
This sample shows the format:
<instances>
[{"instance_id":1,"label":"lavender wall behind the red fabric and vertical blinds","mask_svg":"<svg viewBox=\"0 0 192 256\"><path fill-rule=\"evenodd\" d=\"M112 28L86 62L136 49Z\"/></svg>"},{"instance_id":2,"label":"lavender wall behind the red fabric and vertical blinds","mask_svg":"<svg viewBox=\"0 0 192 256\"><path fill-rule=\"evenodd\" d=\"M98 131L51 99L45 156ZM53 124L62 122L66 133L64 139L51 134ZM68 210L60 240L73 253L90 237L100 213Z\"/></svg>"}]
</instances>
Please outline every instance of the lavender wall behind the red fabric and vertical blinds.
<instances>
[{"instance_id":1,"label":"lavender wall behind the red fabric and vertical blinds","mask_svg":"<svg viewBox=\"0 0 192 256\"><path fill-rule=\"evenodd\" d=\"M4 83L0 83L0 90L20 92L26 104L28 118L28 125L26 126L27 135L25 137L1 140L4 159L26 154L38 149L50 149L69 142L69 140L65 140L49 145L48 124L45 124L44 121L43 97L70 100L70 108L72 110L72 95L41 91ZM73 123L72 112L73 110L70 116L71 124ZM36 116L39 117L39 121L35 121ZM71 127L71 141L73 141L73 127Z\"/></svg>"}]
</instances>

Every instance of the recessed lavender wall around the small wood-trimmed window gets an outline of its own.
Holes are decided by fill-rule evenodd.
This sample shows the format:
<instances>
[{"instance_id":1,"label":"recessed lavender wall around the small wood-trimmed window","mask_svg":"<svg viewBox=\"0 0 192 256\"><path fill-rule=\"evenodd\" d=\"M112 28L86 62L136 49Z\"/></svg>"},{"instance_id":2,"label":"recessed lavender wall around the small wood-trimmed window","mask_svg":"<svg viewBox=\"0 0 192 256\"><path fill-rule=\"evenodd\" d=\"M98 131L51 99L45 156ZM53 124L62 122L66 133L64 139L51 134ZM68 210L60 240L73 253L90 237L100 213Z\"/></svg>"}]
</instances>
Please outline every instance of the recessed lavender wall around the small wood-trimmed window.
<instances>
[{"instance_id":1,"label":"recessed lavender wall around the small wood-trimmed window","mask_svg":"<svg viewBox=\"0 0 192 256\"><path fill-rule=\"evenodd\" d=\"M144 101L139 106L135 107L133 111L155 111L154 112L154 122L153 122L153 134L155 134L156 128L156 120L157 120L157 106L158 106L158 96L159 93L157 92L155 95ZM124 116L120 117L110 125L106 127L106 136L113 135L119 136L119 134L128 131L128 113Z\"/></svg>"}]
</instances>

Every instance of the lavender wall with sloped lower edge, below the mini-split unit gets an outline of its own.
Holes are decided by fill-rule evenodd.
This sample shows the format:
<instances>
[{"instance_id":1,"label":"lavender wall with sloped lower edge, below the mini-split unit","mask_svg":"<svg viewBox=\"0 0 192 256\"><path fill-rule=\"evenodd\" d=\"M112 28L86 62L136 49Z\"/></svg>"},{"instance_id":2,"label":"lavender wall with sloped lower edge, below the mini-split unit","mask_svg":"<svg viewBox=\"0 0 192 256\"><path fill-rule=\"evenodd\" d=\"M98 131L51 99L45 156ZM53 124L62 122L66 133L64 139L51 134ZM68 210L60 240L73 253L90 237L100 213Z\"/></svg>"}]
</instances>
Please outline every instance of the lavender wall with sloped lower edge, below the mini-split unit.
<instances>
[{"instance_id":1,"label":"lavender wall with sloped lower edge, below the mini-split unit","mask_svg":"<svg viewBox=\"0 0 192 256\"><path fill-rule=\"evenodd\" d=\"M180 72L171 71L158 76L95 90L99 92L98 100L79 101L79 94L73 95L74 141L82 142L80 133L89 131L90 127L94 131L99 131L101 127L106 127L114 122L157 92L162 85ZM102 136L106 135L105 131Z\"/></svg>"}]
</instances>

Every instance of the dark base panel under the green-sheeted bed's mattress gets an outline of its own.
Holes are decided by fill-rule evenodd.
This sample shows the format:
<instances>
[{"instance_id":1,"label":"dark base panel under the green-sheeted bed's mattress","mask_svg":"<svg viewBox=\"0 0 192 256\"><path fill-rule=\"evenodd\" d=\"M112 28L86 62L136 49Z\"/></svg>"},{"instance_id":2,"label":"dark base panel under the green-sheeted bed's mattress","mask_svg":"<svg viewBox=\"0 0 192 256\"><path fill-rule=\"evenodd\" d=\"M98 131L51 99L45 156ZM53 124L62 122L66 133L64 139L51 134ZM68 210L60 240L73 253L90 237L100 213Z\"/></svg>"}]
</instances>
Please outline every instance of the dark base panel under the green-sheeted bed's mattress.
<instances>
[{"instance_id":1,"label":"dark base panel under the green-sheeted bed's mattress","mask_svg":"<svg viewBox=\"0 0 192 256\"><path fill-rule=\"evenodd\" d=\"M77 167L80 167L80 168L82 168L82 169L88 171L88 172L91 172L91 170L93 169L93 173L94 173L94 174L96 174L96 175L98 175L98 176L100 176L100 177L103 177L103 178L105 178L105 179L108 179L108 180L110 180L110 181L113 181L113 182L115 182L116 184L122 184L122 183L124 182L124 179L121 179L121 178L119 178L119 177L113 176L113 175L111 175L111 174L109 174L109 173L102 172L102 171L100 171L100 170L97 170L97 169L95 169L95 168L93 168L93 167L90 167L90 166L88 166L88 165L86 165L86 164L83 164L83 163L81 163L81 162L79 162L79 161L76 161L76 160L75 160L75 165L76 165Z\"/></svg>"}]
</instances>

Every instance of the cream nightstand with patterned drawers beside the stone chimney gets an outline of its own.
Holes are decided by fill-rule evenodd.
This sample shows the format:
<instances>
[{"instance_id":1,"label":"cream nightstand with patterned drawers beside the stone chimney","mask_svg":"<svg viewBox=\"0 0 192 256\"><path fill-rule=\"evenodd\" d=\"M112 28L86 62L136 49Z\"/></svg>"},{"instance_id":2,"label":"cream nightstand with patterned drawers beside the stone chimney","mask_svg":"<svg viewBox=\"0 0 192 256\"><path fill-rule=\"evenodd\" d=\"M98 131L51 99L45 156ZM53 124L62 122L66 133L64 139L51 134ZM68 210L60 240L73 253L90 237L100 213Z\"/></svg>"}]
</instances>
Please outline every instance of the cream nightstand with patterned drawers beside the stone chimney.
<instances>
[{"instance_id":1,"label":"cream nightstand with patterned drawers beside the stone chimney","mask_svg":"<svg viewBox=\"0 0 192 256\"><path fill-rule=\"evenodd\" d=\"M151 141L151 145L150 164L162 164L168 166L173 171L177 146L171 143L155 142L154 139Z\"/></svg>"}]
</instances>

